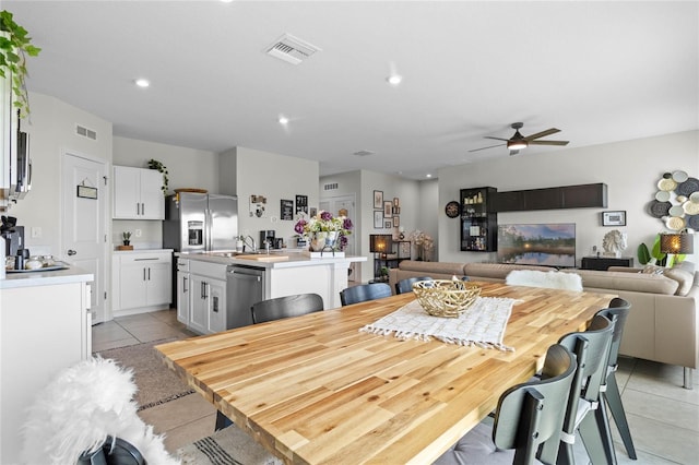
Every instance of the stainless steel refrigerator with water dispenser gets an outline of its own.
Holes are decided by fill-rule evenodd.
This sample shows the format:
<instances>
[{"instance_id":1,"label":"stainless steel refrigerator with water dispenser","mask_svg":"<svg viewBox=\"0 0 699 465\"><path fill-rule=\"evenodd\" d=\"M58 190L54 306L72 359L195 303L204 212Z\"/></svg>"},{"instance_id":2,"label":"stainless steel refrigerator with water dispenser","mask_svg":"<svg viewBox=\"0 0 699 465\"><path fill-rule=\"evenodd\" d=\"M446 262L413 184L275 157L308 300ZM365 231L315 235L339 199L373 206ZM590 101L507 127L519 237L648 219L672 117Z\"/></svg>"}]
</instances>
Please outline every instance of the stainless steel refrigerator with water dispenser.
<instances>
[{"instance_id":1,"label":"stainless steel refrigerator with water dispenser","mask_svg":"<svg viewBox=\"0 0 699 465\"><path fill-rule=\"evenodd\" d=\"M235 250L238 199L233 195L180 192L165 201L163 246L177 252Z\"/></svg>"}]
</instances>

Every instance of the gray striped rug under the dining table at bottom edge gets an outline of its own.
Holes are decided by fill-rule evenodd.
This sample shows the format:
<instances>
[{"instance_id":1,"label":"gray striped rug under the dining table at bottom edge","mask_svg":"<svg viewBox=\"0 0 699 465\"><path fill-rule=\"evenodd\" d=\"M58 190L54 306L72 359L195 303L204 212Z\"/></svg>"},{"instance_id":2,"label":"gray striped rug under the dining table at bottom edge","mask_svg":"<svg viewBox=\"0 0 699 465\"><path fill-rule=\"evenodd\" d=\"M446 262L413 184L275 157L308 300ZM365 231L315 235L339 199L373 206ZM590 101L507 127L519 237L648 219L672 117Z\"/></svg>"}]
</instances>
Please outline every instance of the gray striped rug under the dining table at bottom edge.
<instances>
[{"instance_id":1,"label":"gray striped rug under the dining table at bottom edge","mask_svg":"<svg viewBox=\"0 0 699 465\"><path fill-rule=\"evenodd\" d=\"M177 450L182 465L282 465L235 425Z\"/></svg>"}]
</instances>

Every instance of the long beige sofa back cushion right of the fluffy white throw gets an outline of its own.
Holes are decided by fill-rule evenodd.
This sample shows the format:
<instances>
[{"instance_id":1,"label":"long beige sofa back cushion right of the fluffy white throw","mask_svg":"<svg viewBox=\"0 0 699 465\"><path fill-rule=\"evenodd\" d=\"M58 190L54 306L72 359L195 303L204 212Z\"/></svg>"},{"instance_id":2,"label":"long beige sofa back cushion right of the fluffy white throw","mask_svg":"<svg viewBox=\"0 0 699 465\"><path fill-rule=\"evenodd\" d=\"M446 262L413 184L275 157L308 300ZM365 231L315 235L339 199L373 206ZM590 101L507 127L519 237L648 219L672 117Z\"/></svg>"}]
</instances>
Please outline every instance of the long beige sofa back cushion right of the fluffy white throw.
<instances>
[{"instance_id":1,"label":"long beige sofa back cushion right of the fluffy white throw","mask_svg":"<svg viewBox=\"0 0 699 465\"><path fill-rule=\"evenodd\" d=\"M624 273L595 270L562 270L574 272L582 278L584 288L632 290L636 293L664 294L672 296L677 291L679 283L660 274Z\"/></svg>"}]
</instances>

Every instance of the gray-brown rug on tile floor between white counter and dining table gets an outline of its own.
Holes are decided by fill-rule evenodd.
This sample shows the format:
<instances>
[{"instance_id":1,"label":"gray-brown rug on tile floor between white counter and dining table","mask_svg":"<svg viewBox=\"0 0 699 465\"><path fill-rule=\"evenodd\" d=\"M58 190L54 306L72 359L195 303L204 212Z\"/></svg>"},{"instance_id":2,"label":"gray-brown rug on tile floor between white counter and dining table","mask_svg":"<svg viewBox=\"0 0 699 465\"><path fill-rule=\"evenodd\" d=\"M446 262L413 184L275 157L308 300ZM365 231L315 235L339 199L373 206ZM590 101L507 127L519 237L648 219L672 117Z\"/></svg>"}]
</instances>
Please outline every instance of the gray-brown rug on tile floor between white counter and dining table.
<instances>
[{"instance_id":1,"label":"gray-brown rug on tile floor between white counter and dining table","mask_svg":"<svg viewBox=\"0 0 699 465\"><path fill-rule=\"evenodd\" d=\"M102 358L115 359L120 366L133 369L135 385L139 388L135 394L139 412L194 392L167 368L157 350L153 348L168 341L174 339L137 344L99 353Z\"/></svg>"}]
</instances>

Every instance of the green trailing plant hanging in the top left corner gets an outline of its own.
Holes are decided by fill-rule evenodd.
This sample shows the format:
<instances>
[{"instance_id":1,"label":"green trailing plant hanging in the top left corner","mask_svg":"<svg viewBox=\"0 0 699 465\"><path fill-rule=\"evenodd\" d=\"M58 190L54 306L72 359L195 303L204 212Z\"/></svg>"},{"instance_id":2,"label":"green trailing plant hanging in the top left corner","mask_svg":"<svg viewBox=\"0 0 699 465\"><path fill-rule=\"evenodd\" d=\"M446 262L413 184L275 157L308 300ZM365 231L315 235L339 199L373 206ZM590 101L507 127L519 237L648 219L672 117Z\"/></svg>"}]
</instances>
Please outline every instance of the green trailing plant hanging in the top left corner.
<instances>
[{"instance_id":1,"label":"green trailing plant hanging in the top left corner","mask_svg":"<svg viewBox=\"0 0 699 465\"><path fill-rule=\"evenodd\" d=\"M20 112L20 118L29 115L29 95L26 90L26 57L36 57L40 48L32 45L32 38L27 31L12 19L12 13L2 10L0 12L0 78L12 76L12 94L14 107Z\"/></svg>"}]
</instances>

